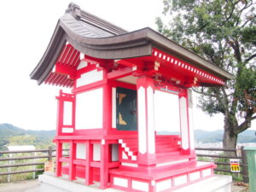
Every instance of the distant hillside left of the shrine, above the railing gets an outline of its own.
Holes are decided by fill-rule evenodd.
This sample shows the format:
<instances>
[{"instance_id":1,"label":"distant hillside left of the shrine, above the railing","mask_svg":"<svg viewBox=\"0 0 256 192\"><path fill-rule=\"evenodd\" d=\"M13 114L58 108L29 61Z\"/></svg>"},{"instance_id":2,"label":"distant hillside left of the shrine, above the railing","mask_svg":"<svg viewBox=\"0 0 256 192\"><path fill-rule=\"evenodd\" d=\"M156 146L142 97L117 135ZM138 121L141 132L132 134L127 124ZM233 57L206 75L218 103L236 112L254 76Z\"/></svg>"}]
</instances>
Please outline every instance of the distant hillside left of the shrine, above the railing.
<instances>
[{"instance_id":1,"label":"distant hillside left of the shrine, above the railing","mask_svg":"<svg viewBox=\"0 0 256 192\"><path fill-rule=\"evenodd\" d=\"M53 137L55 137L55 131L32 131L24 130L20 127L11 124L0 124L0 150L3 150L4 145L9 143L10 137L19 136L34 136L36 137L35 144L51 142ZM24 143L26 144L26 143Z\"/></svg>"}]
</instances>

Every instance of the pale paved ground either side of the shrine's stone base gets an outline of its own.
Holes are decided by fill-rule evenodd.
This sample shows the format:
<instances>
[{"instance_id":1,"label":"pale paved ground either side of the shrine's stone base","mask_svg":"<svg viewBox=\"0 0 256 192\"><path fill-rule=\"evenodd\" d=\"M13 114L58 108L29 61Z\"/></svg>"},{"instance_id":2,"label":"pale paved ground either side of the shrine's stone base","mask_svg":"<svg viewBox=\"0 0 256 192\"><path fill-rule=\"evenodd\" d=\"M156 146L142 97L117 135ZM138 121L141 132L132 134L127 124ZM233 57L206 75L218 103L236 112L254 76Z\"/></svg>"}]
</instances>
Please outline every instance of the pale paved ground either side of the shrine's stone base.
<instances>
[{"instance_id":1,"label":"pale paved ground either side of the shrine's stone base","mask_svg":"<svg viewBox=\"0 0 256 192\"><path fill-rule=\"evenodd\" d=\"M13 183L1 183L1 192L38 192L38 186L40 182L38 180L26 180ZM247 192L247 188L244 186L238 186L235 183L231 185L232 192Z\"/></svg>"}]
</instances>

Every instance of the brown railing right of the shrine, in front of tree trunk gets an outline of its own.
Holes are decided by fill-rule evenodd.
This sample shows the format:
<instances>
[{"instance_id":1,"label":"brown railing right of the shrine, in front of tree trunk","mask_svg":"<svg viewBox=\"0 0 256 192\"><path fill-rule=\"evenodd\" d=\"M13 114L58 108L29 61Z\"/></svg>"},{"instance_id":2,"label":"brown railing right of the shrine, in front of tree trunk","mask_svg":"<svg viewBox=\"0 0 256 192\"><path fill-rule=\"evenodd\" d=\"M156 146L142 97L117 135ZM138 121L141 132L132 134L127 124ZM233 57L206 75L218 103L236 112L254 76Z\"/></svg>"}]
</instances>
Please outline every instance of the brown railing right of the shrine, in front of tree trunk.
<instances>
[{"instance_id":1,"label":"brown railing right of the shrine, in front of tree trunk","mask_svg":"<svg viewBox=\"0 0 256 192\"><path fill-rule=\"evenodd\" d=\"M217 165L217 166L229 166L229 169L222 169L222 168L215 168L214 171L216 172L231 172L230 170L230 163L229 162L218 162L216 160L218 159L238 159L241 160L241 172L236 172L240 173L242 175L242 180L243 183L249 183L249 177L248 177L248 167L247 167L247 155L246 151L243 149L244 147L241 147L241 156L237 155L222 155L222 154L196 154L198 157L207 157L211 158L211 160ZM234 149L226 149L226 148L195 148L195 150L200 150L200 151L223 151L223 152L234 152L236 154L237 150L236 148Z\"/></svg>"}]
</instances>

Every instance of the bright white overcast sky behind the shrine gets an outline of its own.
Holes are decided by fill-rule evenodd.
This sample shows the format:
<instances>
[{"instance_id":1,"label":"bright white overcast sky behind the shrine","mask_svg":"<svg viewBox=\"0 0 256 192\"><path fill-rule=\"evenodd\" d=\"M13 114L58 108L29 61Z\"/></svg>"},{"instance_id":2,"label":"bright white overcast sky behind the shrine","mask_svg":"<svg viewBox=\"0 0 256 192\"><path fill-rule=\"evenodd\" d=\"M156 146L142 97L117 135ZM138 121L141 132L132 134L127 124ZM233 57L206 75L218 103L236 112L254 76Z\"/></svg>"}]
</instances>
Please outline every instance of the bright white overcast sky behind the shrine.
<instances>
[{"instance_id":1,"label":"bright white overcast sky behind the shrine","mask_svg":"<svg viewBox=\"0 0 256 192\"><path fill-rule=\"evenodd\" d=\"M0 124L26 130L55 130L59 87L38 86L29 74L44 55L58 19L70 0L9 0L0 11ZM133 31L156 30L162 16L160 0L74 0L87 12ZM65 90L64 90L65 91ZM196 105L196 101L195 101ZM194 110L194 127L213 131L223 128L223 116L208 117ZM255 122L253 129L256 129Z\"/></svg>"}]
</instances>

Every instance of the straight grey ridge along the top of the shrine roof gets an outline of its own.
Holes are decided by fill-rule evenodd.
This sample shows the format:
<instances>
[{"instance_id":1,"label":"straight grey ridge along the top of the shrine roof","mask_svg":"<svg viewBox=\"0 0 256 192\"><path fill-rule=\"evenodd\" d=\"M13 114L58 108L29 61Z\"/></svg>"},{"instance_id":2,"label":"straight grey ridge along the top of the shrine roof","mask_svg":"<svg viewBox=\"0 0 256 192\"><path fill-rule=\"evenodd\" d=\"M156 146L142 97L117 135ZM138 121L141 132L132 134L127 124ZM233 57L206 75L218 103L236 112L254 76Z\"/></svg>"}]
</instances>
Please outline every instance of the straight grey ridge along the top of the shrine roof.
<instances>
[{"instance_id":1,"label":"straight grey ridge along the top of the shrine roof","mask_svg":"<svg viewBox=\"0 0 256 192\"><path fill-rule=\"evenodd\" d=\"M85 23L89 23L90 25L101 28L106 32L110 32L113 35L120 35L128 32L119 26L113 25L107 20L102 20L102 18L99 18L96 15L92 15L80 9L79 5L75 3L69 3L66 13L73 15L73 17L77 20L83 21Z\"/></svg>"}]
</instances>

